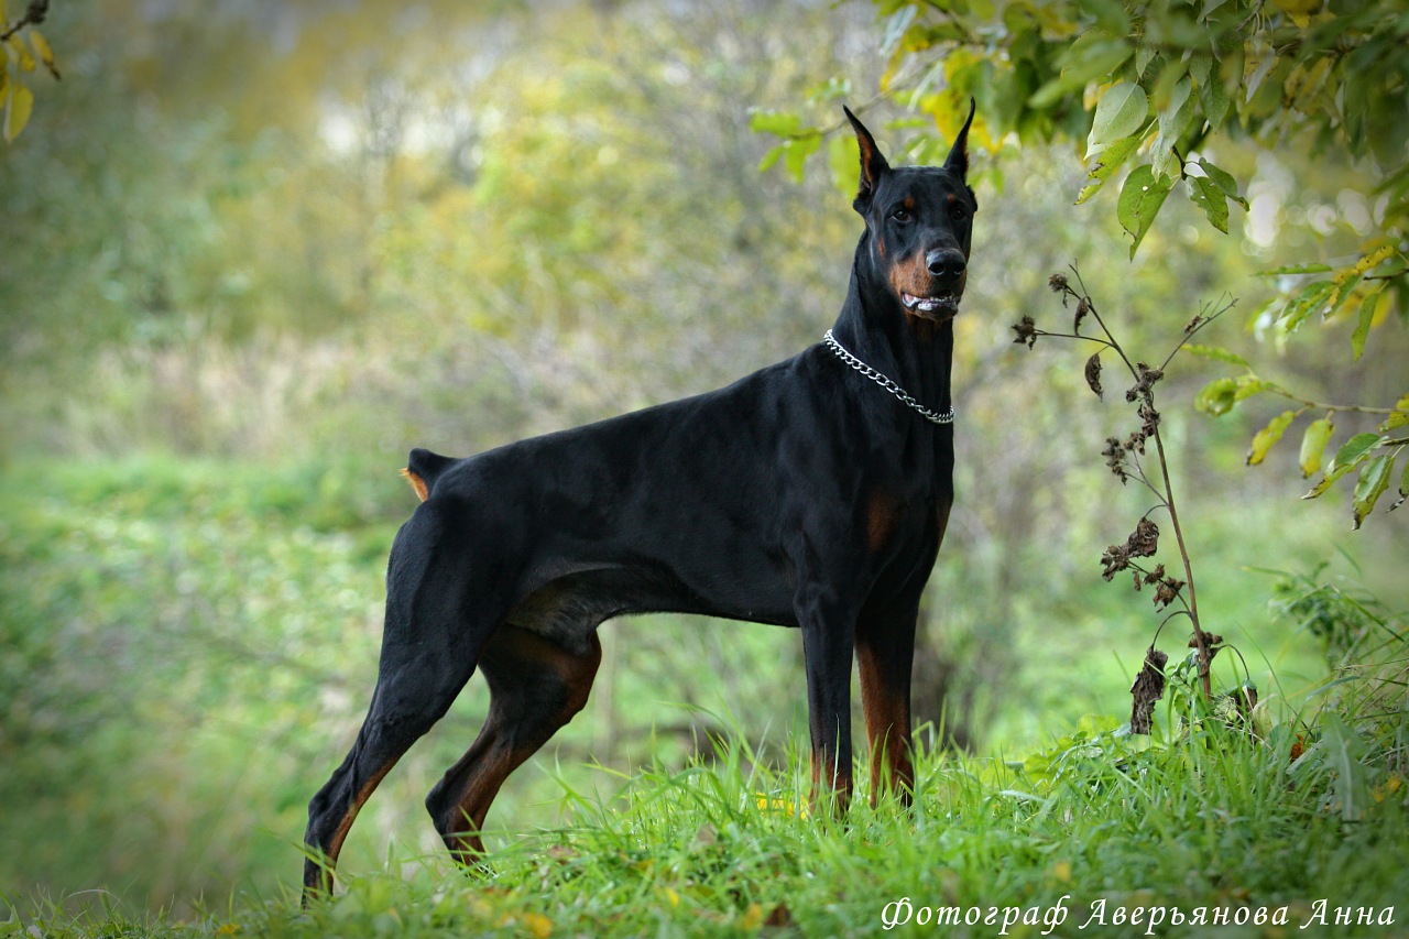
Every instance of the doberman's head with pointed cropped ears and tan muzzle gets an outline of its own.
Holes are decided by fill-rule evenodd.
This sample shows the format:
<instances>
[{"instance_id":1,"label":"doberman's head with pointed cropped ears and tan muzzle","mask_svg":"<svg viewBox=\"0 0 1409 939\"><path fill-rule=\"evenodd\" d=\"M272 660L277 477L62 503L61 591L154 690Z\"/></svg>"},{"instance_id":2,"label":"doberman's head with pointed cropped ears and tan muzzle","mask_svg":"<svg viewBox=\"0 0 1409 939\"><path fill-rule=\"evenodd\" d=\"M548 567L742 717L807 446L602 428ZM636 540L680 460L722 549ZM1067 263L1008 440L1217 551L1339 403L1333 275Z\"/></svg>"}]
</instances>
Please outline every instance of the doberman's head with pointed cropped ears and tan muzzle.
<instances>
[{"instance_id":1,"label":"doberman's head with pointed cropped ears and tan muzzle","mask_svg":"<svg viewBox=\"0 0 1409 939\"><path fill-rule=\"evenodd\" d=\"M978 200L967 182L968 130L954 138L943 166L892 166L871 131L850 109L861 145L855 207L871 233L871 261L910 316L944 321L960 306L968 282L969 238Z\"/></svg>"}]
</instances>

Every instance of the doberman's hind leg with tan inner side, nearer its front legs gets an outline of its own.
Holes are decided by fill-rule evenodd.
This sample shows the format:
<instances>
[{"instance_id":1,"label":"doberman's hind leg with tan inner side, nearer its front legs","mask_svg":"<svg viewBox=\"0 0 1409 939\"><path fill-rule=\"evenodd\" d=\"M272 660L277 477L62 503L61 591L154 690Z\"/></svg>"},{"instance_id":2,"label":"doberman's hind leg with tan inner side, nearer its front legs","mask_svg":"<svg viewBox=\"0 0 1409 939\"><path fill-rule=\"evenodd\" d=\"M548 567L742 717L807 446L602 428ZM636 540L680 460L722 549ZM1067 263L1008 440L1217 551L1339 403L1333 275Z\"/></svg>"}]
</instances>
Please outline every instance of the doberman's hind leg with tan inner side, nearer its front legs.
<instances>
[{"instance_id":1,"label":"doberman's hind leg with tan inner side, nearer its front legs","mask_svg":"<svg viewBox=\"0 0 1409 939\"><path fill-rule=\"evenodd\" d=\"M582 711L602 663L602 644L568 651L537 633L502 626L480 656L489 682L489 715L479 737L426 797L445 846L461 863L485 852L480 829L499 787Z\"/></svg>"}]
</instances>

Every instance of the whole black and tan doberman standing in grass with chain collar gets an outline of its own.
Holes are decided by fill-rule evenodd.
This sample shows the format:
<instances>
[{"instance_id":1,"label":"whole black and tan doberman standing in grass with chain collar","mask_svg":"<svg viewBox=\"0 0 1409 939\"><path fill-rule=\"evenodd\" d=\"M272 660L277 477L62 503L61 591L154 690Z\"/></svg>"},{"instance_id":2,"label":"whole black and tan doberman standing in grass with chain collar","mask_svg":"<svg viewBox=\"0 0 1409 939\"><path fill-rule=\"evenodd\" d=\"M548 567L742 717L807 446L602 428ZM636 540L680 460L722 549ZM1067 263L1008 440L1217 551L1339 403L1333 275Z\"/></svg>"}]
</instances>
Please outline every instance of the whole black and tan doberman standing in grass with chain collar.
<instances>
[{"instance_id":1,"label":"whole black and tan doberman standing in grass with chain collar","mask_svg":"<svg viewBox=\"0 0 1409 939\"><path fill-rule=\"evenodd\" d=\"M851 794L851 658L871 792L909 802L920 592L954 496L952 319L976 202L974 110L943 166L861 147L867 230L826 340L728 388L466 460L411 451L421 505L386 572L376 689L309 804L306 898L333 887L358 809L478 665L483 729L426 806L457 859L504 778L582 709L597 626L688 612L802 630L813 802Z\"/></svg>"}]
</instances>

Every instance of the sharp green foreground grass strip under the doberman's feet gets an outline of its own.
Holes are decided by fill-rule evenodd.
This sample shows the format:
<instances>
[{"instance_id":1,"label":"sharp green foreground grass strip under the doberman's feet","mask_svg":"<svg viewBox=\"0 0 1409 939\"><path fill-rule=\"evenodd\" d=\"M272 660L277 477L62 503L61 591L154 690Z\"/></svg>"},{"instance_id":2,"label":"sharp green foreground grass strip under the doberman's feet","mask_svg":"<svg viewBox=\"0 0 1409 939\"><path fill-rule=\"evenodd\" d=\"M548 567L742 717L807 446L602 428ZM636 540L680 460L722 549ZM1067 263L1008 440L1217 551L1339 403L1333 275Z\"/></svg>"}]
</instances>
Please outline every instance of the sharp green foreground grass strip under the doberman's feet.
<instances>
[{"instance_id":1,"label":"sharp green foreground grass strip under the doberman's feet","mask_svg":"<svg viewBox=\"0 0 1409 939\"><path fill-rule=\"evenodd\" d=\"M607 801L565 791L575 823L521 836L469 876L440 856L393 852L309 911L285 894L237 895L182 921L132 918L104 897L18 912L46 936L820 936L879 933L886 905L909 898L914 909L1016 907L1030 916L1064 905L1057 935L1082 923L1082 935L1129 935L1117 909L1192 919L1203 908L1212 922L1216 908L1285 908L1289 932L1248 935L1305 935L1298 926L1322 898L1330 923L1334 908L1378 916L1402 905L1409 830L1402 788L1386 784L1398 777L1347 821L1330 811L1334 773L1315 754L1291 764L1288 744L1219 728L1140 750L1085 733L1047 754L1061 757L1058 771L1037 775L930 756L913 811L862 798L838 823L797 811L799 760L771 771L731 739L712 766L643 771ZM1088 922L1099 901L1102 919ZM1203 933L1167 923L1160 935Z\"/></svg>"}]
</instances>

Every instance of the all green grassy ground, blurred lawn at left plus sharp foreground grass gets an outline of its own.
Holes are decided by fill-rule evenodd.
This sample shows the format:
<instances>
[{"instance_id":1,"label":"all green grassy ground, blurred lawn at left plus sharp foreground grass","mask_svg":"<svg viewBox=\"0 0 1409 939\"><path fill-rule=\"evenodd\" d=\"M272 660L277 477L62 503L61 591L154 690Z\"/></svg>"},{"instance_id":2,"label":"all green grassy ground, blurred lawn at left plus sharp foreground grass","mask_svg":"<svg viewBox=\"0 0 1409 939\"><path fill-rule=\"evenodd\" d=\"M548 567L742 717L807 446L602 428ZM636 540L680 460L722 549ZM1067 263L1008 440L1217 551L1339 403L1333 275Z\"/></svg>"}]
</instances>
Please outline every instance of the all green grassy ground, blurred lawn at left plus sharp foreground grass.
<instances>
[{"instance_id":1,"label":"all green grassy ground, blurred lawn at left plus sharp foreground grass","mask_svg":"<svg viewBox=\"0 0 1409 939\"><path fill-rule=\"evenodd\" d=\"M910 812L871 809L862 790L845 825L806 816L797 715L771 725L786 709L738 684L721 699L757 713L706 722L726 730L693 761L654 739L592 766L600 713L575 722L558 764L538 760L506 788L489 870L466 877L434 849L420 798L478 728L472 685L364 812L338 895L300 912L303 806L361 719L379 633L369 584L407 508L376 479L166 460L0 472L0 936L867 935L903 916L902 900L900 932L974 936L1038 935L1058 908L1054 935L1129 935L1136 909L1164 918L1158 935L1202 935L1189 921L1216 915L1250 921L1230 935L1270 936L1346 935L1341 909L1409 916L1402 618L1310 581L1285 622L1267 622L1265 601L1223 608L1261 630L1243 646L1255 677L1326 667L1313 637L1351 663L1339 684L1258 677L1258 740L1191 722L1178 687L1154 746L1116 733L1117 719L1078 719L1095 701L1082 695L1107 685L1091 709L1127 708L1129 670L1098 677L1109 663L1091 660L1110 658L1112 639L1072 613L1060 637L1017 632L1030 664L1013 680L1043 711L1007 722L1041 732L1007 736L1005 759L924 756ZM1231 565L1213 568L1210 595L1233 595ZM1088 619L1119 605L1107 594ZM696 663L719 654L690 643L720 630L612 629L635 630L633 647L668 633ZM1301 651L1284 660L1293 634ZM730 634L734 658L710 671L766 678L786 637ZM1374 692L1358 691L1367 650L1385 678ZM647 658L661 684L641 663L612 682L633 732L668 722L659 702L693 671ZM940 929L937 907L1000 912ZM1009 908L1020 921L1003 933Z\"/></svg>"}]
</instances>

